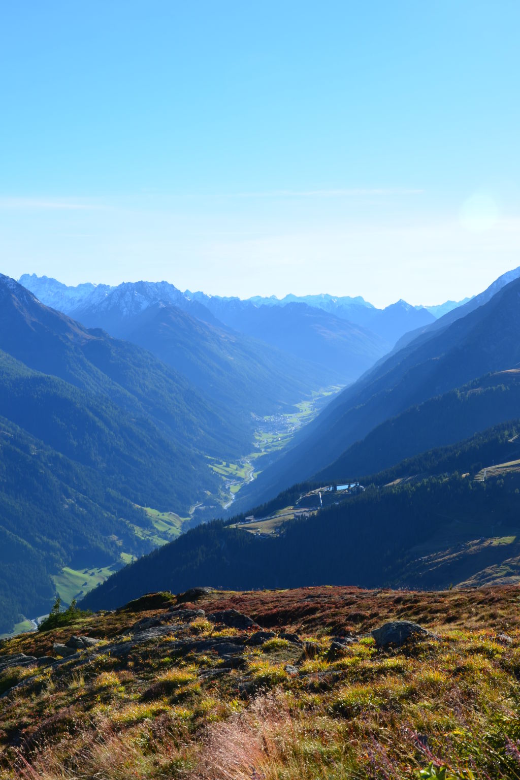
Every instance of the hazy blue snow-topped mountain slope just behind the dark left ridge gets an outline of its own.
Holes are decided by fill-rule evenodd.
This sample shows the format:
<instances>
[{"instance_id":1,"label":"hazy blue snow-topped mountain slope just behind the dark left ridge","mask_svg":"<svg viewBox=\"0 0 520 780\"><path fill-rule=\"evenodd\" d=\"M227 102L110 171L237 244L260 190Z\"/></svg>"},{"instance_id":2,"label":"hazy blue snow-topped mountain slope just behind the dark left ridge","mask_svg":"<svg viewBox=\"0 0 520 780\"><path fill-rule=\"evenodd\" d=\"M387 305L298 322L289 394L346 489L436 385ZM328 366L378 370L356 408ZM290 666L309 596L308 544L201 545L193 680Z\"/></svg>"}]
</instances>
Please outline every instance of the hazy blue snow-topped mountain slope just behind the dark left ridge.
<instances>
[{"instance_id":1,"label":"hazy blue snow-topped mountain slope just behind the dark left ridge","mask_svg":"<svg viewBox=\"0 0 520 780\"><path fill-rule=\"evenodd\" d=\"M28 275L22 280L40 292L44 301L62 296L64 285L55 280ZM76 288L65 290L76 300ZM103 328L116 338L143 346L175 368L214 404L224 406L228 417L239 415L251 440L252 415L279 413L311 392L341 384L345 373L334 363L322 363L317 371L310 360L280 353L233 331L202 303L188 300L167 282L97 287L76 307L65 300L64 310L87 327Z\"/></svg>"}]
</instances>

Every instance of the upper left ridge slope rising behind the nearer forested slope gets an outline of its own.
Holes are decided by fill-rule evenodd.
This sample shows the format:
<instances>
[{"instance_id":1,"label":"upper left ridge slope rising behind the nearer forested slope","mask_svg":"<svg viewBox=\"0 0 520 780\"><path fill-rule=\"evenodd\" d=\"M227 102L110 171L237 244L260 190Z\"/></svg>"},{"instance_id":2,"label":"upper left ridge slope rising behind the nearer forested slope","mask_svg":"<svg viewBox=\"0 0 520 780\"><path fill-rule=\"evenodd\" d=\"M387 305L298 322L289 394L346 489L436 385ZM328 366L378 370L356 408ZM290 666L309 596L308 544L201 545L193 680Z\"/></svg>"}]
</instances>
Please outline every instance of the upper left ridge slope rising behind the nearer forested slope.
<instances>
[{"instance_id":1,"label":"upper left ridge slope rising behind the nearer forested slope","mask_svg":"<svg viewBox=\"0 0 520 780\"><path fill-rule=\"evenodd\" d=\"M0 276L0 349L35 371L87 392L102 393L122 410L148 416L181 447L220 456L249 445L230 415L164 363L129 342L87 330L45 307L14 280Z\"/></svg>"}]
</instances>

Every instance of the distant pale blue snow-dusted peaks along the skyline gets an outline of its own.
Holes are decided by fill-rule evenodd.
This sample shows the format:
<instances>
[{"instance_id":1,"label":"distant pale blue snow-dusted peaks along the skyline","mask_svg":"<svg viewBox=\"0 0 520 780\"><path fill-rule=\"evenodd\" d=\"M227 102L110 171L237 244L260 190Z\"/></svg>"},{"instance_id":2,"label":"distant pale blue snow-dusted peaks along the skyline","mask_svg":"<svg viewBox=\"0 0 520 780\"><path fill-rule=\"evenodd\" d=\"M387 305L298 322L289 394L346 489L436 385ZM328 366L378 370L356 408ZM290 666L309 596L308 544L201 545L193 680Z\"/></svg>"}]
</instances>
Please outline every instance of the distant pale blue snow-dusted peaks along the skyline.
<instances>
[{"instance_id":1,"label":"distant pale blue snow-dusted peaks along the skyline","mask_svg":"<svg viewBox=\"0 0 520 780\"><path fill-rule=\"evenodd\" d=\"M309 307L322 312L321 317L310 321L310 334L314 337L316 332L322 329L325 332L335 332L341 328L338 320L344 320L351 326L359 326L362 332L370 331L372 339L374 336L378 337L384 352L391 349L401 335L432 324L440 312L444 314L445 311L465 302L447 301L437 307L426 308L413 307L404 300L399 300L385 309L377 309L361 296L351 298L288 295L281 300L274 296L253 296L249 300L241 300L236 297L192 293L189 290L182 293L168 282L124 282L117 287L87 283L68 287L53 278L37 277L35 274L24 274L19 278L19 283L30 289L48 306L69 314L88 327L102 327L112 335L123 336L128 332L128 322L136 314L156 303L162 303L182 309L197 319L213 324L218 321L235 331L253 335L256 339L278 346L277 339L272 340L273 332L278 330L280 324L290 331L294 327L295 312L303 313L305 307ZM294 304L299 306L295 307ZM291 314L286 321L284 310L287 308ZM315 314L317 315L317 312ZM306 316L310 316L308 310ZM307 333L305 317L302 323L299 323L299 328L302 330L300 338L296 339L295 349L288 349L297 356L301 356L304 351L302 345ZM292 339L294 340L294 334ZM285 349L291 346L292 340L287 339ZM319 352L313 352L313 360L319 355ZM321 364L327 366L325 360L322 360Z\"/></svg>"}]
</instances>

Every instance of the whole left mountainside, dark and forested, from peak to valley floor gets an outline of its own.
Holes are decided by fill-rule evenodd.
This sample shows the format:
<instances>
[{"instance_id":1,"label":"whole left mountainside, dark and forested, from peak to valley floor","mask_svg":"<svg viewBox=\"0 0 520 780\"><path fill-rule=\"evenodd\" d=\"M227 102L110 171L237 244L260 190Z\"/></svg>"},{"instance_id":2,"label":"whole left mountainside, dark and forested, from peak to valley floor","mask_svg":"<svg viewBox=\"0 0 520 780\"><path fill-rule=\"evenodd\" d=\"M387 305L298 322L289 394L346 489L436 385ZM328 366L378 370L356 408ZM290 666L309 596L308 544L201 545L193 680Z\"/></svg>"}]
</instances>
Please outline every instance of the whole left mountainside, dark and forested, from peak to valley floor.
<instances>
[{"instance_id":1,"label":"whole left mountainside, dark and forested, from peak to valley floor","mask_svg":"<svg viewBox=\"0 0 520 780\"><path fill-rule=\"evenodd\" d=\"M140 507L186 516L220 487L207 456L248 452L251 431L150 353L7 277L0 303L2 632L48 611L64 566L149 551Z\"/></svg>"}]
</instances>

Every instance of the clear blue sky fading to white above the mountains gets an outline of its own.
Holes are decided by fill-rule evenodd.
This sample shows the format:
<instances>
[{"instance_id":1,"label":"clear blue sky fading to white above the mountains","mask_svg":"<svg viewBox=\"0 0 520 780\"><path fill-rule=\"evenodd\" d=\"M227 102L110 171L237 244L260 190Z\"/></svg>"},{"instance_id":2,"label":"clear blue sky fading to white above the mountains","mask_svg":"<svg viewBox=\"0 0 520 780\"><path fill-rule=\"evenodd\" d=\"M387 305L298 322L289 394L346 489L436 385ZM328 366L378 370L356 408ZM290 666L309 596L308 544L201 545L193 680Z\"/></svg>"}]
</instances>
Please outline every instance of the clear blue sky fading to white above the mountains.
<instances>
[{"instance_id":1,"label":"clear blue sky fading to white above the mountains","mask_svg":"<svg viewBox=\"0 0 520 780\"><path fill-rule=\"evenodd\" d=\"M218 295L520 265L518 0L2 3L0 256Z\"/></svg>"}]
</instances>

